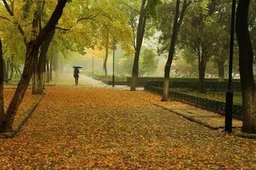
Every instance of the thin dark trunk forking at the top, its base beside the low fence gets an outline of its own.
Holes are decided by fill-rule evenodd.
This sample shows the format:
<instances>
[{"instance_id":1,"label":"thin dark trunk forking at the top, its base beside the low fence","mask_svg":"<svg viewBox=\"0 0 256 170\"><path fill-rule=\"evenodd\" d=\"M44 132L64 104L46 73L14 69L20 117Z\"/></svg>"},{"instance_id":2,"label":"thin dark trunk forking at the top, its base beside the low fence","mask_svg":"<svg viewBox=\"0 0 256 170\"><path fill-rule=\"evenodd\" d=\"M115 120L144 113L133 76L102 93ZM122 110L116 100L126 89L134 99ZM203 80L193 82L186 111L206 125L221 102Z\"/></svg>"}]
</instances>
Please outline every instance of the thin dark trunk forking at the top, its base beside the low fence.
<instances>
[{"instance_id":1,"label":"thin dark trunk forking at the top, its base beside the low fence","mask_svg":"<svg viewBox=\"0 0 256 170\"><path fill-rule=\"evenodd\" d=\"M170 42L170 49L169 49L166 65L164 67L164 91L163 91L163 98L162 98L163 102L168 101L168 98L169 98L170 70L172 66L173 56L175 54L175 45L178 39L179 28L182 24L182 20L185 15L186 8L188 8L189 4L190 3L187 3L187 1L184 0L182 11L180 13L180 0L176 1L175 18L173 22L173 32L172 32L172 38Z\"/></svg>"}]
</instances>

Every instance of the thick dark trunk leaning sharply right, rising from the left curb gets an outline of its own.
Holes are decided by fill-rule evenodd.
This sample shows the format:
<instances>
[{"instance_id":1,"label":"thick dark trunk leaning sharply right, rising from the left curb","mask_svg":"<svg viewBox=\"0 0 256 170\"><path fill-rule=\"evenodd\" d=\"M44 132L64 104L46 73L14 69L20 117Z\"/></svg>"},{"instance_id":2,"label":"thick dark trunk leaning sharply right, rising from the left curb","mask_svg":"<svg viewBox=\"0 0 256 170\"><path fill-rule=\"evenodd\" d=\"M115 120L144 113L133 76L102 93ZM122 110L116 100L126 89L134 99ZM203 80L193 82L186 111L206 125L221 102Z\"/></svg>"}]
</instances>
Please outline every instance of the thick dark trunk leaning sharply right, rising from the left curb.
<instances>
[{"instance_id":1,"label":"thick dark trunk leaning sharply right, rising from the left curb","mask_svg":"<svg viewBox=\"0 0 256 170\"><path fill-rule=\"evenodd\" d=\"M40 31L35 40L31 40L31 42L27 44L24 70L17 89L6 111L2 126L4 128L0 129L1 132L12 132L12 124L15 118L15 114L20 105L20 102L22 101L22 98L24 97L26 89L29 85L29 81L31 79L31 74L33 72L31 68L33 68L34 62L33 59L35 59L35 56L38 56L38 49L40 45L44 42L45 38L49 36L49 32L56 26L58 20L63 13L63 8L65 7L66 3L67 0L58 0L58 4L45 27L42 29L42 31Z\"/></svg>"}]
</instances>

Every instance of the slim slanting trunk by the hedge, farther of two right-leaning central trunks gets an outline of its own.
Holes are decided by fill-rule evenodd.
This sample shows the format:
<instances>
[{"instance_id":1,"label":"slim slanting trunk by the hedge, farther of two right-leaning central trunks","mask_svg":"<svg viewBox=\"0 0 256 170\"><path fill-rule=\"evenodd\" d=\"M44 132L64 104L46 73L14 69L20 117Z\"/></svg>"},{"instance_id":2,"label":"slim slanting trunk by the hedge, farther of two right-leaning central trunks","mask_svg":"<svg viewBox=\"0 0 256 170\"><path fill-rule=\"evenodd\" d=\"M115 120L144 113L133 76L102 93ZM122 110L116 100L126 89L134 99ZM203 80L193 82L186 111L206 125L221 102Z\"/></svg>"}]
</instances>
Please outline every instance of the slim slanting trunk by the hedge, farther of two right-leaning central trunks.
<instances>
[{"instance_id":1,"label":"slim slanting trunk by the hedge, farther of two right-leaning central trunks","mask_svg":"<svg viewBox=\"0 0 256 170\"><path fill-rule=\"evenodd\" d=\"M145 8L146 0L141 2L140 19L138 24L137 38L136 38L136 51L134 55L134 62L132 66L132 79L131 79L131 91L135 91L138 86L139 77L139 59L140 50L143 42L143 36L145 33L145 27L147 22L147 7Z\"/></svg>"}]
</instances>

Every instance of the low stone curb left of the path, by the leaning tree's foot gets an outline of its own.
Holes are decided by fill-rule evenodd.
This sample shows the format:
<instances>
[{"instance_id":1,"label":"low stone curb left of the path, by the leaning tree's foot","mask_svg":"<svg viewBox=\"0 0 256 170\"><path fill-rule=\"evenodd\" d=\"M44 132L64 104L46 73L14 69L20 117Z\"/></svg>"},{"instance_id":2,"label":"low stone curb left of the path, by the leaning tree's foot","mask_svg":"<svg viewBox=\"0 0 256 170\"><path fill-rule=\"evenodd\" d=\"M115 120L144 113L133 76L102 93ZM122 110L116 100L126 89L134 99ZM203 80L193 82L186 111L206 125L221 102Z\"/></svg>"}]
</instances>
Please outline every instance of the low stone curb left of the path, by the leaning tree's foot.
<instances>
[{"instance_id":1,"label":"low stone curb left of the path, by the leaning tree's foot","mask_svg":"<svg viewBox=\"0 0 256 170\"><path fill-rule=\"evenodd\" d=\"M25 111L26 112L26 116L23 118L23 120L20 121L19 125L13 130L13 132L4 132L4 133L0 134L0 139L15 137L15 135L18 132L20 132L20 129L22 128L22 126L31 117L31 114L35 111L36 107L43 100L44 96L45 95L42 95L42 97L37 102L35 102L27 111Z\"/></svg>"}]
</instances>

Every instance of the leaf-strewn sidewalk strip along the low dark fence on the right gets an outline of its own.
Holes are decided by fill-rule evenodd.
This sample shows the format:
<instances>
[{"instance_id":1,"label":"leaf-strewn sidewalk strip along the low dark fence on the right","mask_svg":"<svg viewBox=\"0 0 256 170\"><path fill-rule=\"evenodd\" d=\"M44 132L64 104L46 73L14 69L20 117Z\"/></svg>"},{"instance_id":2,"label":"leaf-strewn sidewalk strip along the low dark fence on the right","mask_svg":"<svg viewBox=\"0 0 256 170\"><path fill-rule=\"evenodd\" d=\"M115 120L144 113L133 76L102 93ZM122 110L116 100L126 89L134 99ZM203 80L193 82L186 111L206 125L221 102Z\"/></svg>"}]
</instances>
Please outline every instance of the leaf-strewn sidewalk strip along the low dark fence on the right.
<instances>
[{"instance_id":1,"label":"leaf-strewn sidewalk strip along the low dark fence on the right","mask_svg":"<svg viewBox=\"0 0 256 170\"><path fill-rule=\"evenodd\" d=\"M209 127L211 129L219 129L225 127L225 116L216 112L206 111L193 105L184 104L174 100L161 102L161 96L149 91L145 92L143 95L143 98L150 98L150 100L147 100L147 102L162 107L168 111L175 112L176 114L179 114L180 116L183 116L190 121L204 125L205 127ZM141 99L143 100L143 98ZM233 119L233 128L241 128L242 125L243 121Z\"/></svg>"}]
</instances>

